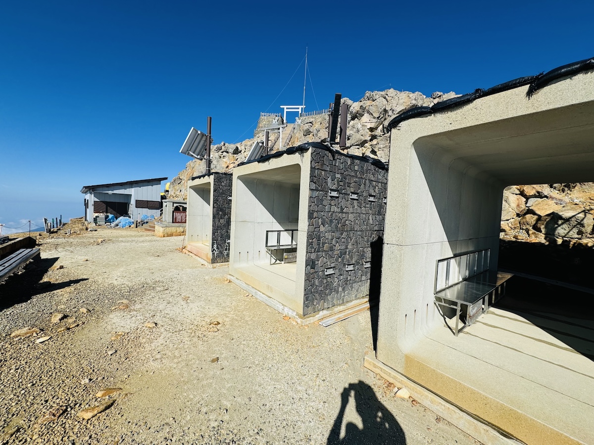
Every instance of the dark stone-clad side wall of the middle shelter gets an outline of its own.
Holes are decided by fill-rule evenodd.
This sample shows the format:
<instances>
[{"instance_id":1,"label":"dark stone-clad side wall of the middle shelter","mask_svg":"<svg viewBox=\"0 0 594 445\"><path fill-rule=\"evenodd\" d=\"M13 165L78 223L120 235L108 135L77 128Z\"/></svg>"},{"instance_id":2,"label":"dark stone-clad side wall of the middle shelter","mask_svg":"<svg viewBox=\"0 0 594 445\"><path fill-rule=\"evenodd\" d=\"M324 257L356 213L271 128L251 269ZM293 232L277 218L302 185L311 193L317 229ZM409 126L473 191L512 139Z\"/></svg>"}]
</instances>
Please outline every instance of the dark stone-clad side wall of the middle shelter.
<instances>
[{"instance_id":1,"label":"dark stone-clad side wall of the middle shelter","mask_svg":"<svg viewBox=\"0 0 594 445\"><path fill-rule=\"evenodd\" d=\"M364 160L311 149L304 315L370 295L370 284L378 294L387 182Z\"/></svg>"}]
</instances>

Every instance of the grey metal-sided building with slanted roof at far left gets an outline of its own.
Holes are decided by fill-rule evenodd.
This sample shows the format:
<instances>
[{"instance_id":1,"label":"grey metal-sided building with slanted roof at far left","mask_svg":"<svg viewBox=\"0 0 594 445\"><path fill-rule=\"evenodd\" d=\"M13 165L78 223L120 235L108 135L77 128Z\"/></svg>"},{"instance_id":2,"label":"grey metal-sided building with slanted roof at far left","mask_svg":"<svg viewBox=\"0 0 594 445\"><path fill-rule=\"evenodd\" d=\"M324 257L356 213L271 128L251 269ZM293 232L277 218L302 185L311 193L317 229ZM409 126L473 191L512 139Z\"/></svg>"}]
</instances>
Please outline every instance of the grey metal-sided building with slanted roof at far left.
<instances>
[{"instance_id":1,"label":"grey metal-sided building with slanted roof at far left","mask_svg":"<svg viewBox=\"0 0 594 445\"><path fill-rule=\"evenodd\" d=\"M116 218L130 215L132 220L141 215L153 215L161 208L161 182L167 177L139 179L83 186L84 219L93 221L94 213L110 213Z\"/></svg>"}]
</instances>

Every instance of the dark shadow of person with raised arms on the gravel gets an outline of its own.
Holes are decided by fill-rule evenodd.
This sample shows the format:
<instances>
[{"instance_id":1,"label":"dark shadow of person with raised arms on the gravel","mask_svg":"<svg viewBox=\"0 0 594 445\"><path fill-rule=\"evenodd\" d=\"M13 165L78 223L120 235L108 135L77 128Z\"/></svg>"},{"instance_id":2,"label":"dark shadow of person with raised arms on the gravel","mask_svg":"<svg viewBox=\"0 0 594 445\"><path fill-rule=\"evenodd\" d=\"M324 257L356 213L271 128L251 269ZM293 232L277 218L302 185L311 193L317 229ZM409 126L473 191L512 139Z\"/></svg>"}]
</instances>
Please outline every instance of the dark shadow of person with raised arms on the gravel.
<instances>
[{"instance_id":1,"label":"dark shadow of person with raised arms on the gravel","mask_svg":"<svg viewBox=\"0 0 594 445\"><path fill-rule=\"evenodd\" d=\"M355 396L356 410L363 421L363 428L352 422L345 427L345 437L340 438L350 395ZM327 445L394 444L405 445L405 432L390 411L377 399L371 386L361 382L351 383L342 391L340 410L328 435Z\"/></svg>"}]
</instances>

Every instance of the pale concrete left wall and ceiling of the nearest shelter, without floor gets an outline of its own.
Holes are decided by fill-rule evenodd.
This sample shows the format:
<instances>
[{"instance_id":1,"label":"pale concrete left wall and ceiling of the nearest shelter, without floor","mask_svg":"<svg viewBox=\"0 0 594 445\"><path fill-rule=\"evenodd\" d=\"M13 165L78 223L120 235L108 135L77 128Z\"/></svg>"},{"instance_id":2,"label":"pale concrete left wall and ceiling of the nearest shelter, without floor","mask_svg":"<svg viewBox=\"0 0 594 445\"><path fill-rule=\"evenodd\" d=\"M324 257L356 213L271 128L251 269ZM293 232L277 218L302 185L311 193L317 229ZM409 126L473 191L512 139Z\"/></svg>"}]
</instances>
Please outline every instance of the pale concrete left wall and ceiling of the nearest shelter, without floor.
<instances>
[{"instance_id":1,"label":"pale concrete left wall and ceiling of the nearest shelter, without floor","mask_svg":"<svg viewBox=\"0 0 594 445\"><path fill-rule=\"evenodd\" d=\"M407 355L443 323L433 304L437 260L490 247L497 267L503 187L594 180L594 75L530 99L526 90L391 131L377 357L405 375Z\"/></svg>"}]
</instances>

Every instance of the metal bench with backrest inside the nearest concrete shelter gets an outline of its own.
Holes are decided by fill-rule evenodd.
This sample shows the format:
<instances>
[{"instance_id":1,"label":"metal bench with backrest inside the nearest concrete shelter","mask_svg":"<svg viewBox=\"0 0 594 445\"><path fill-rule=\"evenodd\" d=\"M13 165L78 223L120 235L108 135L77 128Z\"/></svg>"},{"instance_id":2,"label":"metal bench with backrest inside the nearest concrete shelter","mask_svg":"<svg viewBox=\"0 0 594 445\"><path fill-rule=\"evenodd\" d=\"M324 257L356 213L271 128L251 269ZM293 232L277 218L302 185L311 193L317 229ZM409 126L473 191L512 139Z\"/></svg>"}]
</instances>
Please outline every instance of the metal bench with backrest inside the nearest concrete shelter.
<instances>
[{"instance_id":1,"label":"metal bench with backrest inside the nearest concrete shelter","mask_svg":"<svg viewBox=\"0 0 594 445\"><path fill-rule=\"evenodd\" d=\"M435 305L444 318L445 308L456 309L455 336L505 294L513 274L489 270L490 258L491 249L485 249L437 260ZM461 314L464 325L459 328Z\"/></svg>"}]
</instances>

